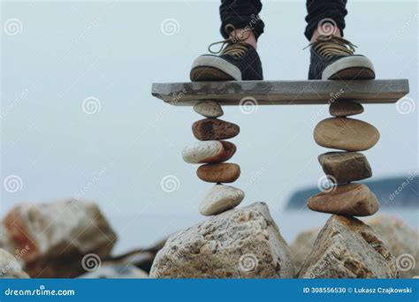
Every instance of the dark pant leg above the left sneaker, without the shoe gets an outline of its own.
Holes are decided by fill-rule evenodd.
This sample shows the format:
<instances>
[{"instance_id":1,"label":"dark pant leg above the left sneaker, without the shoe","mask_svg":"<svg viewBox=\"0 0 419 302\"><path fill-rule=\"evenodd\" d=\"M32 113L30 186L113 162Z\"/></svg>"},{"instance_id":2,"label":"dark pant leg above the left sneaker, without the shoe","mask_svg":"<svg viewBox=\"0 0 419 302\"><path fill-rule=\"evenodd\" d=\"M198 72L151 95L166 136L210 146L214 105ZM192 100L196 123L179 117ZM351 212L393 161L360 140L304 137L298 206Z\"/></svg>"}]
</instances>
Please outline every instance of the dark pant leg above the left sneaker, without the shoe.
<instances>
[{"instance_id":1,"label":"dark pant leg above the left sneaker, without the shoe","mask_svg":"<svg viewBox=\"0 0 419 302\"><path fill-rule=\"evenodd\" d=\"M222 0L220 6L221 28L220 32L228 38L225 26L232 24L236 28L249 28L256 39L263 33L263 21L259 18L262 9L260 0Z\"/></svg>"}]
</instances>

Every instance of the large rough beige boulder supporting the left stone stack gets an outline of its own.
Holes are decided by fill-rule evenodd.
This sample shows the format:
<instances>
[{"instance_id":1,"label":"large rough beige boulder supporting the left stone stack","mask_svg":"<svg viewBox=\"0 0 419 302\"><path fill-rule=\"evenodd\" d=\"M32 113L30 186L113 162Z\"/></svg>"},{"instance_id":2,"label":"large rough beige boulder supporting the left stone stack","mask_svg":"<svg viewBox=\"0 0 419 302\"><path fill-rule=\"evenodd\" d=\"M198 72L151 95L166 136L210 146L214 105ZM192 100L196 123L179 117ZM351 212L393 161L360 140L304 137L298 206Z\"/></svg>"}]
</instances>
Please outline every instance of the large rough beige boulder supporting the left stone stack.
<instances>
[{"instance_id":1,"label":"large rough beige boulder supporting the left stone stack","mask_svg":"<svg viewBox=\"0 0 419 302\"><path fill-rule=\"evenodd\" d=\"M172 235L154 260L154 278L293 278L286 241L267 205L211 216Z\"/></svg>"}]
</instances>

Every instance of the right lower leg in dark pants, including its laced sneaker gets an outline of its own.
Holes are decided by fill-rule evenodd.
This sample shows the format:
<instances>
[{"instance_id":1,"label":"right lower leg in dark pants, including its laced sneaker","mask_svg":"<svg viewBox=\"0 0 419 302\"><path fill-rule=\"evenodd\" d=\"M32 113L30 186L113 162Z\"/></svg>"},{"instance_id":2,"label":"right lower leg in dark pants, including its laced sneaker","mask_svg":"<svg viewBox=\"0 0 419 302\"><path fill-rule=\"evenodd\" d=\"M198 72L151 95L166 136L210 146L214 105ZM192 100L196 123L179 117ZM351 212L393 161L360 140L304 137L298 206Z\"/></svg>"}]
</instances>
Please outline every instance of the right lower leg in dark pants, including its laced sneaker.
<instances>
[{"instance_id":1,"label":"right lower leg in dark pants, including its laced sneaker","mask_svg":"<svg viewBox=\"0 0 419 302\"><path fill-rule=\"evenodd\" d=\"M307 0L306 38L310 41L309 79L374 79L368 57L354 55L343 37L347 0Z\"/></svg>"}]
</instances>

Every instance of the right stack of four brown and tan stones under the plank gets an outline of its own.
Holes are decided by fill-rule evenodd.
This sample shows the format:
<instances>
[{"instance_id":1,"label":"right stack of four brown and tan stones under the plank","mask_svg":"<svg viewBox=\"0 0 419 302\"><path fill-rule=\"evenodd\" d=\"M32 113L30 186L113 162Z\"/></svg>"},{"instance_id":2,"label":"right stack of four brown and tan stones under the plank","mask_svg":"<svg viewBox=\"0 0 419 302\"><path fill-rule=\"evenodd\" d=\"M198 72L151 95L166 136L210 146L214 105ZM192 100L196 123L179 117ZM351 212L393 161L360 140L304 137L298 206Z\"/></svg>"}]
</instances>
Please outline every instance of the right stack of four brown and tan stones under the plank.
<instances>
[{"instance_id":1,"label":"right stack of four brown and tan stones under the plank","mask_svg":"<svg viewBox=\"0 0 419 302\"><path fill-rule=\"evenodd\" d=\"M314 139L322 147L344 151L318 156L334 186L310 197L308 206L311 210L331 214L373 215L379 208L376 195L367 185L352 182L372 176L367 158L359 151L376 145L380 134L373 125L348 117L363 112L358 102L333 102L329 112L332 117L316 125Z\"/></svg>"}]
</instances>

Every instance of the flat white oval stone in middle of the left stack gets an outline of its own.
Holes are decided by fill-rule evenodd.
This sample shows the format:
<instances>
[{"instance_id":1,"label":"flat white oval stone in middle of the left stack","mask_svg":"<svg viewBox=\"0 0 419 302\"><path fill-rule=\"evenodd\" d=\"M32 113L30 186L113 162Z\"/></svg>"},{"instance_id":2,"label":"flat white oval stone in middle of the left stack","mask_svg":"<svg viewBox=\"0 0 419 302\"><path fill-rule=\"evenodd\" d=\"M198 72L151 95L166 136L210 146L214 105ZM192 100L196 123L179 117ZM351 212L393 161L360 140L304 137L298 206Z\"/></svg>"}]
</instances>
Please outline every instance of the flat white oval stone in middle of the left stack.
<instances>
[{"instance_id":1,"label":"flat white oval stone in middle of the left stack","mask_svg":"<svg viewBox=\"0 0 419 302\"><path fill-rule=\"evenodd\" d=\"M182 157L188 163L201 163L223 153L224 147L218 140L197 141L185 147Z\"/></svg>"}]
</instances>

